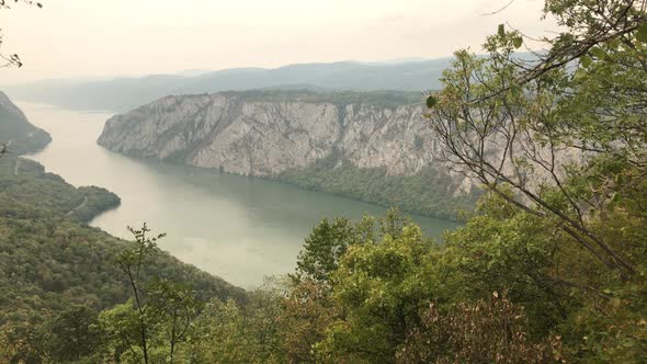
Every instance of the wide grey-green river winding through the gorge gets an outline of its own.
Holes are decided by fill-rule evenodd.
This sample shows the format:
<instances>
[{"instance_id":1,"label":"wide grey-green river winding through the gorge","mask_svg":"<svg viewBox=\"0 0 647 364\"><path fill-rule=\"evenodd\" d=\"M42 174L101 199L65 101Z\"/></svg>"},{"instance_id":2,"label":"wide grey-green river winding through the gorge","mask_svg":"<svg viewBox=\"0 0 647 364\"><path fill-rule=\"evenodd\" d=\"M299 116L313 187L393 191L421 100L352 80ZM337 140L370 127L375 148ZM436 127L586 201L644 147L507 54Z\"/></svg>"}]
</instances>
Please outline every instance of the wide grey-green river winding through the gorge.
<instances>
[{"instance_id":1,"label":"wide grey-green river winding through the gorge","mask_svg":"<svg viewBox=\"0 0 647 364\"><path fill-rule=\"evenodd\" d=\"M294 271L304 238L322 217L356 219L386 211L284 183L127 158L95 143L110 113L18 104L53 138L29 158L76 186L102 186L122 198L91 226L129 238L126 226L146 221L154 232L167 232L162 249L242 287ZM435 237L456 226L421 216L413 220Z\"/></svg>"}]
</instances>

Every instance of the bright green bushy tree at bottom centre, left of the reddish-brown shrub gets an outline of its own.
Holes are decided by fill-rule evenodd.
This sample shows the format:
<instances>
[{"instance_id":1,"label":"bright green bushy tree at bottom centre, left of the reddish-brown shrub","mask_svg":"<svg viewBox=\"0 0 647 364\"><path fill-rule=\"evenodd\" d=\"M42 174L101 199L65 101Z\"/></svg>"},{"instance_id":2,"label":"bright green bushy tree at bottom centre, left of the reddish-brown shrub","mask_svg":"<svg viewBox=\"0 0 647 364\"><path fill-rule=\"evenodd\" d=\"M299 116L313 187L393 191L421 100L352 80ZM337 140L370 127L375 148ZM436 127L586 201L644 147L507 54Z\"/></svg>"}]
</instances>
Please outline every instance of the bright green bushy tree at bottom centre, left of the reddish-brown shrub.
<instances>
[{"instance_id":1,"label":"bright green bushy tree at bottom centre, left of the reddish-brown shrub","mask_svg":"<svg viewBox=\"0 0 647 364\"><path fill-rule=\"evenodd\" d=\"M349 248L332 275L332 297L343 312L328 329L322 352L333 362L389 362L433 297L432 243L420 228Z\"/></svg>"}]
</instances>

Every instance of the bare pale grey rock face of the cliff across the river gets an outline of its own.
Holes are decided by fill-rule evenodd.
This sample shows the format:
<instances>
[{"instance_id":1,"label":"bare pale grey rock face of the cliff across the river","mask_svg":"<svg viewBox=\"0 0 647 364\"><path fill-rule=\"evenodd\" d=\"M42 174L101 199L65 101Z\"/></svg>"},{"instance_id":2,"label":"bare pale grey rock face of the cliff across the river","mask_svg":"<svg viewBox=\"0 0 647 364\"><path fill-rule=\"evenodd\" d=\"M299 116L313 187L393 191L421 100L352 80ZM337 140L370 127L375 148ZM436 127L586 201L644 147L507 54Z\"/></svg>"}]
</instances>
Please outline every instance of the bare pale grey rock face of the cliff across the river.
<instances>
[{"instance_id":1,"label":"bare pale grey rock face of the cliff across the river","mask_svg":"<svg viewBox=\"0 0 647 364\"><path fill-rule=\"evenodd\" d=\"M469 193L469 181L450 177L434 163L436 141L422 113L421 105L385 106L298 94L167 96L110 118L98 143L128 156L256 177L293 175L331 159L331 173L342 166L348 170L348 164L383 171L385 178L431 169L450 181L442 194Z\"/></svg>"}]
</instances>

